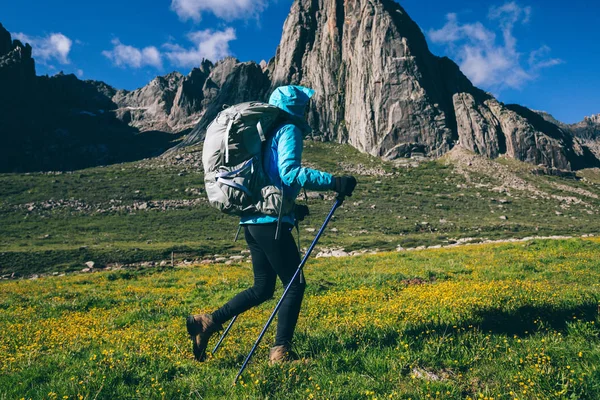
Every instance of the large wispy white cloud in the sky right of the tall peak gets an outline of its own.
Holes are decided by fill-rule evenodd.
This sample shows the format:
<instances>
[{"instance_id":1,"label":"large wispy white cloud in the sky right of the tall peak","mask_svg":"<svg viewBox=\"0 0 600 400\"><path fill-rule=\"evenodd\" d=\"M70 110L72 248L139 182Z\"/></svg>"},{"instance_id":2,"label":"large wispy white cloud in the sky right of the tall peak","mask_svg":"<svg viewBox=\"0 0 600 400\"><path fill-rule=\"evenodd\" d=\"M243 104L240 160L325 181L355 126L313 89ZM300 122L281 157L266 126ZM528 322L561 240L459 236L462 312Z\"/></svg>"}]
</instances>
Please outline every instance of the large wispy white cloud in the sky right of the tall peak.
<instances>
[{"instance_id":1,"label":"large wispy white cloud in the sky right of the tall peak","mask_svg":"<svg viewBox=\"0 0 600 400\"><path fill-rule=\"evenodd\" d=\"M531 12L531 7L522 7L514 1L491 7L488 18L494 28L481 22L461 24L452 13L446 16L442 28L430 30L428 36L433 43L447 47L473 84L494 91L518 89L536 79L541 69L562 63L560 59L548 58L548 46L529 52L527 64L522 62L514 27L517 23L528 23ZM501 32L501 41L497 40L495 30Z\"/></svg>"}]
</instances>

